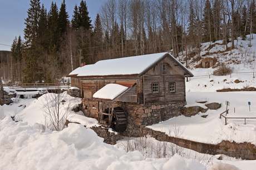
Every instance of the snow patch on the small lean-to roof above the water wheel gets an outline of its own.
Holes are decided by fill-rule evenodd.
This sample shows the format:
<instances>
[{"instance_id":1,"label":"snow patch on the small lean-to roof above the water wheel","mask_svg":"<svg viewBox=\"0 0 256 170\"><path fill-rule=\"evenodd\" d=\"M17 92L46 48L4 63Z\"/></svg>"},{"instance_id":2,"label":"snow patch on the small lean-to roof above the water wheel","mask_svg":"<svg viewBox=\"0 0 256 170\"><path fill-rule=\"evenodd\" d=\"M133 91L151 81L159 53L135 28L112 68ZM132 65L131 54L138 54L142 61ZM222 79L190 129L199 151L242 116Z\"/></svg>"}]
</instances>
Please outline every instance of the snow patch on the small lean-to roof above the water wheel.
<instances>
[{"instance_id":1,"label":"snow patch on the small lean-to roof above the water wheel","mask_svg":"<svg viewBox=\"0 0 256 170\"><path fill-rule=\"evenodd\" d=\"M99 89L99 91L93 94L93 98L113 100L119 96L119 94L126 91L126 89L128 89L128 87L122 86L120 84L106 84L106 86L102 87Z\"/></svg>"}]
</instances>

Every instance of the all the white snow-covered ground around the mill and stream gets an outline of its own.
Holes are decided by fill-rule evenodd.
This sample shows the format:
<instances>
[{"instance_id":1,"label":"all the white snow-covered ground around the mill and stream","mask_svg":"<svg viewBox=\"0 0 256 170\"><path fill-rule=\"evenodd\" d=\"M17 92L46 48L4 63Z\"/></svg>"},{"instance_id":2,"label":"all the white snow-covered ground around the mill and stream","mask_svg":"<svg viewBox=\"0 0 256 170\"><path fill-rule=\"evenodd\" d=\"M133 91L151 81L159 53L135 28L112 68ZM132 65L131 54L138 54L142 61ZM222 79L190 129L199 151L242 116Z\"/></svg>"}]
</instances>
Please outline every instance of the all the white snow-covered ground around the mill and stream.
<instances>
[{"instance_id":1,"label":"all the white snow-covered ground around the mill and stream","mask_svg":"<svg viewBox=\"0 0 256 170\"><path fill-rule=\"evenodd\" d=\"M204 104L196 101L218 102L221 103L218 110L208 110L192 117L178 116L149 127L170 136L176 135L172 128L178 127L180 137L204 143L216 144L227 140L256 144L256 119L247 119L246 124L244 119L228 119L225 125L224 118L219 118L226 109L225 101L230 102L227 117L256 117L256 92L216 92L223 88L256 87L253 77L256 39L252 40L250 47L248 43L248 39L239 39L237 48L225 53L216 53L225 49L221 42L216 42L211 49L208 48L209 43L202 44L201 55L209 57L206 54L212 53L210 57L228 64L233 70L231 77L213 76L216 68L193 68L198 63L190 64L195 77L186 82L187 106L205 108ZM239 83L235 83L237 79ZM82 116L82 112L73 112L81 100L65 93L60 94L57 106L63 113L68 111L66 117L70 121L82 125L71 123L60 132L52 132L44 124L51 123L47 119L47 109L54 110L56 104L47 103L56 97L56 94L44 94L37 99L16 98L13 104L0 106L0 169L255 169L256 161L227 156L221 156L223 160L220 161L219 155L200 154L170 143L171 147L167 148L178 148L180 155L167 149L167 155L162 157L160 151L168 145L150 137L137 141L150 141L150 147L139 149L140 152L127 149L131 141L136 143L138 139L124 138L110 146L91 129L82 126L99 124L96 119ZM250 112L248 102L251 103ZM208 116L203 118L203 115ZM19 122L12 121L11 116Z\"/></svg>"}]
</instances>

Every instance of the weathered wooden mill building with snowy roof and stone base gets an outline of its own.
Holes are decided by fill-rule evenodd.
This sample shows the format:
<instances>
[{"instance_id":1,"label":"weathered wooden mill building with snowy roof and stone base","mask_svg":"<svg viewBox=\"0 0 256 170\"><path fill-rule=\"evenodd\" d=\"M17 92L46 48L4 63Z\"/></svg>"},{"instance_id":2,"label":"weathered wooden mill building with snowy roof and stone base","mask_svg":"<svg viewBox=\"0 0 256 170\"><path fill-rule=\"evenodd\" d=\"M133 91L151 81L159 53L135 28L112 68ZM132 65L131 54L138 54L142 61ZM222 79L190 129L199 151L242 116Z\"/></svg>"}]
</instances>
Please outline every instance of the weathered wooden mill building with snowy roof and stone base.
<instances>
[{"instance_id":1,"label":"weathered wooden mill building with snowy roof and stone base","mask_svg":"<svg viewBox=\"0 0 256 170\"><path fill-rule=\"evenodd\" d=\"M75 69L68 77L73 87L81 89L86 116L103 121L105 114L112 114L115 122L113 111L121 108L128 128L141 129L180 114L186 104L185 77L193 74L170 53L156 53L99 61ZM117 92L116 86L106 84L126 88ZM115 96L108 97L112 93Z\"/></svg>"}]
</instances>

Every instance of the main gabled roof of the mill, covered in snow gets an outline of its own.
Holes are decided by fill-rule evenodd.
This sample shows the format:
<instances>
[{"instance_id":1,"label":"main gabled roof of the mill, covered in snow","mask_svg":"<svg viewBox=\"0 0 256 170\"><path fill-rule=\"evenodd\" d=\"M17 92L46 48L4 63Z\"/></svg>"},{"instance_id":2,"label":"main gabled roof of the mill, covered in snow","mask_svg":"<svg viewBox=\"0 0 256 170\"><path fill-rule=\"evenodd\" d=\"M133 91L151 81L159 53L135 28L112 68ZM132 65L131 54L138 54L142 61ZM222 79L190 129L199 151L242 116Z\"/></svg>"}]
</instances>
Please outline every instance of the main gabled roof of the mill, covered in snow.
<instances>
[{"instance_id":1,"label":"main gabled roof of the mill, covered in snow","mask_svg":"<svg viewBox=\"0 0 256 170\"><path fill-rule=\"evenodd\" d=\"M193 77L193 74L169 53L156 53L134 57L106 59L98 61L95 64L78 67L70 74L68 74L68 76L93 77L136 75L140 77L146 71L154 67L157 63L168 56L173 58L174 62L176 62L182 69L184 69L186 76Z\"/></svg>"}]
</instances>

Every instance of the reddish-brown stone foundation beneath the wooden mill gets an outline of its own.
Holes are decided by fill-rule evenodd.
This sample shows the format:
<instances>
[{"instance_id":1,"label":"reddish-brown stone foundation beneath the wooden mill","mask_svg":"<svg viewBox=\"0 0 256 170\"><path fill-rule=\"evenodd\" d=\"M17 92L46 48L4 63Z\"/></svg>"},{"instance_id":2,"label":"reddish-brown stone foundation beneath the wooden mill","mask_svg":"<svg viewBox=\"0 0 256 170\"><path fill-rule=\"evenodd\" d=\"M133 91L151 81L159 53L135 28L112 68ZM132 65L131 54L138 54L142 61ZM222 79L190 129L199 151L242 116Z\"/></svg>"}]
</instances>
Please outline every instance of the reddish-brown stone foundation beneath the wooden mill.
<instances>
[{"instance_id":1,"label":"reddish-brown stone foundation beneath the wooden mill","mask_svg":"<svg viewBox=\"0 0 256 170\"><path fill-rule=\"evenodd\" d=\"M141 136L144 127L179 116L185 105L185 101L149 104L115 102L114 107L121 107L127 112L126 135L138 137ZM101 102L100 108L102 108ZM104 110L105 108L108 108L107 104L104 105ZM98 119L97 109L97 101L82 99L82 111L86 117Z\"/></svg>"}]
</instances>

